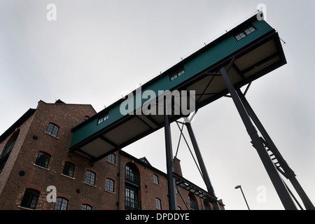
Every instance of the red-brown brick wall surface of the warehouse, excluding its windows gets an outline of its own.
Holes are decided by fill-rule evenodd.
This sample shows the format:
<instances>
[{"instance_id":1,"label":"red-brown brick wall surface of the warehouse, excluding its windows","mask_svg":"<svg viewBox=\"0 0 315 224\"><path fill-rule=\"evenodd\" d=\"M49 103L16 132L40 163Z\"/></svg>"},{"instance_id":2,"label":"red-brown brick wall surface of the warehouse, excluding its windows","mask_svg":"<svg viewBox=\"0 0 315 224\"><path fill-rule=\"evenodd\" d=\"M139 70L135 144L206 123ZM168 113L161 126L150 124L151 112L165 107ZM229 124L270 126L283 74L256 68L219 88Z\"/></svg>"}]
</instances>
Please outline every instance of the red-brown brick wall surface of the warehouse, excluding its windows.
<instances>
[{"instance_id":1,"label":"red-brown brick wall surface of the warehouse, excluding its windows","mask_svg":"<svg viewBox=\"0 0 315 224\"><path fill-rule=\"evenodd\" d=\"M20 207L20 203L27 188L40 192L36 209L54 209L55 203L49 203L46 199L50 193L47 191L48 186L56 187L57 197L69 200L67 209L81 209L82 204L88 204L97 210L125 209L125 187L128 185L125 181L126 165L134 167L140 176L138 195L141 209L155 210L155 198L161 200L163 210L169 209L167 177L158 169L124 152L114 153L115 164L108 162L108 158L91 164L90 160L80 155L68 153L71 128L82 123L85 116L94 114L95 111L90 105L38 102L34 115L19 127L18 141L10 155L8 165L0 175L0 190L2 189L0 209L24 209ZM45 133L48 123L59 126L57 137ZM36 140L34 136L37 137ZM6 141L0 144L0 150ZM47 169L34 165L39 151L51 155ZM75 165L72 178L62 174L65 162ZM180 170L180 167L176 169ZM24 171L25 175L20 176L20 171ZM96 174L93 186L85 183L87 171ZM153 183L153 174L158 176L158 184ZM106 179L114 181L113 192L106 190ZM183 188L179 190L190 207L188 191ZM181 209L186 209L179 195L177 202ZM203 200L197 197L197 203L198 207L203 209Z\"/></svg>"}]
</instances>

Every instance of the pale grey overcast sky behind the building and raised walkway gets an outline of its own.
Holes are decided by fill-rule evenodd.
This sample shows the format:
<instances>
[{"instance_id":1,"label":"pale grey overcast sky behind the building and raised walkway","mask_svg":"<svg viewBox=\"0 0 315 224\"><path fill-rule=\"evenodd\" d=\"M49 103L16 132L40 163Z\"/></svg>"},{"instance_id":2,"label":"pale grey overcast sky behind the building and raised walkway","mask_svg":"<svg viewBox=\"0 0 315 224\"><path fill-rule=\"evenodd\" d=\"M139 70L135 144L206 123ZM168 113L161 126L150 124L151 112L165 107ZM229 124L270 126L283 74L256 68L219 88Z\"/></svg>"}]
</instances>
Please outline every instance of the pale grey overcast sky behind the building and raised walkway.
<instances>
[{"instance_id":1,"label":"pale grey overcast sky behind the building and raised walkway","mask_svg":"<svg viewBox=\"0 0 315 224\"><path fill-rule=\"evenodd\" d=\"M57 7L57 20L47 19L48 3ZM312 0L1 0L0 133L39 100L92 104L101 111L125 90L134 90L249 18L258 3L265 3L267 22L286 42L288 64L255 80L246 96L315 203ZM251 209L283 209L232 99L200 109L192 125L226 209L247 209L237 185ZM174 153L178 139L173 124ZM146 156L166 172L163 129L123 150ZM178 157L183 176L206 189L185 144ZM266 190L265 202L257 200L260 189Z\"/></svg>"}]
</instances>

